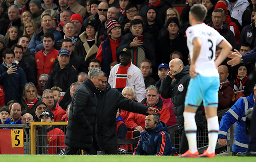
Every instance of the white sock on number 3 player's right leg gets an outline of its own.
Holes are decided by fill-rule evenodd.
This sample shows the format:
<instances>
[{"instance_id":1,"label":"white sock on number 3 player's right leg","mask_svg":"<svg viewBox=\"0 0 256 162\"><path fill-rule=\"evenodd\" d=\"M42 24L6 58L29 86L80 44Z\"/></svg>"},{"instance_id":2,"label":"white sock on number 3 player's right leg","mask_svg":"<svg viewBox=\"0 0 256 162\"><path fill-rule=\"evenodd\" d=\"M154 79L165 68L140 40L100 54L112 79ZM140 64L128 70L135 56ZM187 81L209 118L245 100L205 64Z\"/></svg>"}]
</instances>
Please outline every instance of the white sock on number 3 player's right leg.
<instances>
[{"instance_id":1,"label":"white sock on number 3 player's right leg","mask_svg":"<svg viewBox=\"0 0 256 162\"><path fill-rule=\"evenodd\" d=\"M209 140L209 146L208 146L207 152L213 153L215 152L215 147L218 140L218 132L219 132L218 116L208 118L207 126L208 126L208 140Z\"/></svg>"}]
</instances>

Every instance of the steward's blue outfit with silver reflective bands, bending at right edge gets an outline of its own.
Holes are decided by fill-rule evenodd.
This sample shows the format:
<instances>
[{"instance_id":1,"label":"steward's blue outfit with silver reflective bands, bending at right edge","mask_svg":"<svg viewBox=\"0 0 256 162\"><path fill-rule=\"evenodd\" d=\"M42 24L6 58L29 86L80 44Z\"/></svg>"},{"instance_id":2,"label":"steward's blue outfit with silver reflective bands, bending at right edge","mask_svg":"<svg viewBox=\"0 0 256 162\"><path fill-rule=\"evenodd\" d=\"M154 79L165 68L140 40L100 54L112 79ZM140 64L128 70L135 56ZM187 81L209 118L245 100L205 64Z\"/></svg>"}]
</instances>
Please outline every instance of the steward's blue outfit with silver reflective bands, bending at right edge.
<instances>
[{"instance_id":1,"label":"steward's blue outfit with silver reflective bands, bending at right edge","mask_svg":"<svg viewBox=\"0 0 256 162\"><path fill-rule=\"evenodd\" d=\"M246 111L254 105L255 95L252 93L249 97L241 97L236 103L223 114L219 125L219 141L227 139L228 129L234 123L234 143L232 151L234 153L245 152L249 145L249 138L245 134ZM219 142L220 143L220 142Z\"/></svg>"}]
</instances>

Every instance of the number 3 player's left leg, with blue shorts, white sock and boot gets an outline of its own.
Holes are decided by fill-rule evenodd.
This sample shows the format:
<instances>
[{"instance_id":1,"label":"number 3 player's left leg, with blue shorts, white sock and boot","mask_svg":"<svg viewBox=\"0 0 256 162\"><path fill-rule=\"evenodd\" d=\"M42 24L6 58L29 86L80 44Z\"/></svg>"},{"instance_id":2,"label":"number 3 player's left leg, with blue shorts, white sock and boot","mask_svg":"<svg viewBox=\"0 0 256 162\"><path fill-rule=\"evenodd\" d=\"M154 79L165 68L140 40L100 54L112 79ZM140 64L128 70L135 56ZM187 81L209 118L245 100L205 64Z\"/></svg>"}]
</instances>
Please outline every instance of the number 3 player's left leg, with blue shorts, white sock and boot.
<instances>
[{"instance_id":1,"label":"number 3 player's left leg, with blue shorts, white sock and boot","mask_svg":"<svg viewBox=\"0 0 256 162\"><path fill-rule=\"evenodd\" d=\"M196 132L197 126L195 123L195 112L202 103L204 98L204 88L202 88L202 79L197 75L195 79L190 79L187 95L185 99L184 130L189 143L189 151L182 154L181 157L198 157ZM192 154L191 156L189 154ZM196 156L197 155L197 156Z\"/></svg>"}]
</instances>

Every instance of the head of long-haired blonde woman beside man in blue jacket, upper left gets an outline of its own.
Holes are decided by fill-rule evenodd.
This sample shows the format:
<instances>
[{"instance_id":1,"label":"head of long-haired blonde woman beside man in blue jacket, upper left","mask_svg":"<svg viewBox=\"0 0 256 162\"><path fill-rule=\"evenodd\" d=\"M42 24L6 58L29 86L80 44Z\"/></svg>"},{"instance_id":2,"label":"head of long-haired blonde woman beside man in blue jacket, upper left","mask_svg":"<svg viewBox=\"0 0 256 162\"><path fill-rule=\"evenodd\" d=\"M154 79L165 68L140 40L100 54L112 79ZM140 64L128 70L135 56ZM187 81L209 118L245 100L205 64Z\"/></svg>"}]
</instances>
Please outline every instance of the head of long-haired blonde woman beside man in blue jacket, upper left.
<instances>
[{"instance_id":1,"label":"head of long-haired blonde woman beside man in blue jacket, upper left","mask_svg":"<svg viewBox=\"0 0 256 162\"><path fill-rule=\"evenodd\" d=\"M34 19L27 20L24 23L24 32L23 35L28 37L30 41L35 33L38 32L37 22Z\"/></svg>"}]
</instances>

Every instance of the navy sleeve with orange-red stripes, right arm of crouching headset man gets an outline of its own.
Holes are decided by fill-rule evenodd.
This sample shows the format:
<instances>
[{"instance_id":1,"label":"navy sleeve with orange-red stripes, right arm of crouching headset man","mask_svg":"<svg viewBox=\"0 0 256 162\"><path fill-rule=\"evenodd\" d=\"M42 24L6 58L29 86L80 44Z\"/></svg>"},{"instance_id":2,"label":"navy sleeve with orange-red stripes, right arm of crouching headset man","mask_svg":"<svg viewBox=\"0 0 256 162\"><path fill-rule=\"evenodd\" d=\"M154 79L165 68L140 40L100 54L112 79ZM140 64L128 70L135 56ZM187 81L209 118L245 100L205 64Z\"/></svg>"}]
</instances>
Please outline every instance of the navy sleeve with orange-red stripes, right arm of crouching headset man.
<instances>
[{"instance_id":1,"label":"navy sleeve with orange-red stripes, right arm of crouching headset man","mask_svg":"<svg viewBox=\"0 0 256 162\"><path fill-rule=\"evenodd\" d=\"M171 147L171 140L167 132L159 132L159 136L157 138L157 149L156 154L154 156L165 156L169 155L169 150Z\"/></svg>"}]
</instances>

